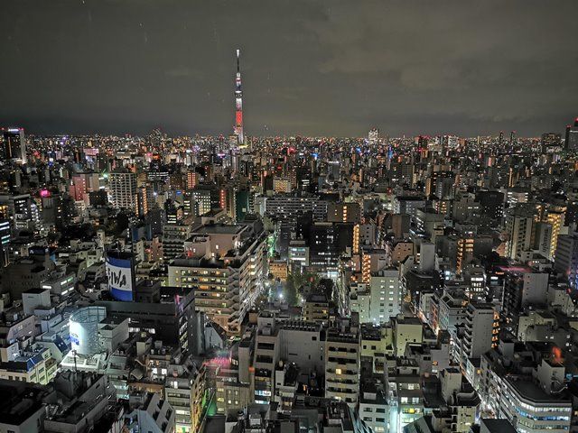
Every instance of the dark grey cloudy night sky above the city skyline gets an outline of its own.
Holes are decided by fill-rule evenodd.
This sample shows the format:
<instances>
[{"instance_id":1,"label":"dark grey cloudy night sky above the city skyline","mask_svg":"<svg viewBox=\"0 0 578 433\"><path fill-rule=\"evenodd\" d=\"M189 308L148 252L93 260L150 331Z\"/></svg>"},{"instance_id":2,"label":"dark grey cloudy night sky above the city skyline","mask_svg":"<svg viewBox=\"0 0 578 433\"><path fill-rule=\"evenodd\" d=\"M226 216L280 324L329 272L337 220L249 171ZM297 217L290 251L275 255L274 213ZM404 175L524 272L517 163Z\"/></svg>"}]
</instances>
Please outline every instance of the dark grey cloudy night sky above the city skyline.
<instances>
[{"instance_id":1,"label":"dark grey cloudy night sky above the city skyline","mask_svg":"<svg viewBox=\"0 0 578 433\"><path fill-rule=\"evenodd\" d=\"M562 132L578 1L4 0L0 124L36 133Z\"/></svg>"}]
</instances>

